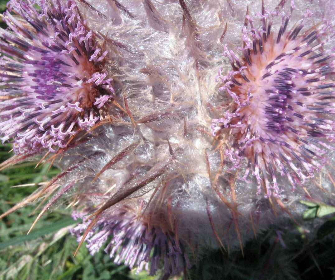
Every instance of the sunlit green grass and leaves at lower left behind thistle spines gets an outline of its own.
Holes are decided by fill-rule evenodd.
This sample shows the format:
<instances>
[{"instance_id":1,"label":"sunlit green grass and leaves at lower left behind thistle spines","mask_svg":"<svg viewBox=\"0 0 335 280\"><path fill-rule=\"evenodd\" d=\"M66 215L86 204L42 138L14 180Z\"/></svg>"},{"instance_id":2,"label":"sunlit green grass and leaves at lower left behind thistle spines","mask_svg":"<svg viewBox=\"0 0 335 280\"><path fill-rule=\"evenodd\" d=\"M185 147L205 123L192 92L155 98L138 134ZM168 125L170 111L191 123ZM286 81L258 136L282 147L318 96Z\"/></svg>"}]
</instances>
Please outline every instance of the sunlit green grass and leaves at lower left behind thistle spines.
<instances>
[{"instance_id":1,"label":"sunlit green grass and leaves at lower left behind thistle spines","mask_svg":"<svg viewBox=\"0 0 335 280\"><path fill-rule=\"evenodd\" d=\"M0 162L7 159L9 146L0 146ZM59 170L49 165L35 168L36 162L26 162L0 172L0 213L34 192L41 182L50 180ZM14 185L25 185L13 188ZM0 220L0 280L45 279L114 279L130 280L133 272L118 266L104 252L89 255L83 245L78 254L76 238L69 228L76 224L71 209L60 207L43 216L27 235L36 219L38 203L27 205ZM134 279L137 275L134 275ZM141 279L147 278L147 273Z\"/></svg>"}]
</instances>

